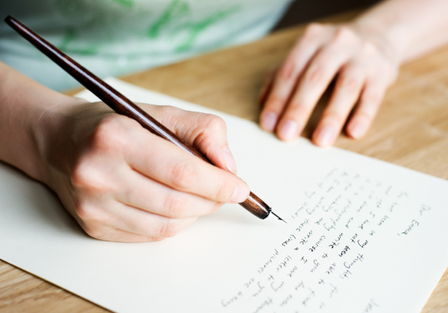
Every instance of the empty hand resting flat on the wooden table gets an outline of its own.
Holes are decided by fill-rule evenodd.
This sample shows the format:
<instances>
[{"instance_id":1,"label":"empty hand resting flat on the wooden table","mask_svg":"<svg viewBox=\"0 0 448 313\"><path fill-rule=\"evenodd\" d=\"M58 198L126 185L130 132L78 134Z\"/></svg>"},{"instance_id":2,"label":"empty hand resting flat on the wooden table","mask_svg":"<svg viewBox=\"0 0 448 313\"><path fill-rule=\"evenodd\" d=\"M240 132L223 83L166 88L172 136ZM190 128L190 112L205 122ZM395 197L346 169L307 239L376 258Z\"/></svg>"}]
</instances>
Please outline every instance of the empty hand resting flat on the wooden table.
<instances>
[{"instance_id":1,"label":"empty hand resting flat on the wooden table","mask_svg":"<svg viewBox=\"0 0 448 313\"><path fill-rule=\"evenodd\" d=\"M348 136L360 138L370 127L387 87L395 80L398 66L392 47L375 29L356 22L310 24L261 92L261 127L275 131L281 140L295 139L336 78L312 141L318 146L333 145L345 124Z\"/></svg>"}]
</instances>

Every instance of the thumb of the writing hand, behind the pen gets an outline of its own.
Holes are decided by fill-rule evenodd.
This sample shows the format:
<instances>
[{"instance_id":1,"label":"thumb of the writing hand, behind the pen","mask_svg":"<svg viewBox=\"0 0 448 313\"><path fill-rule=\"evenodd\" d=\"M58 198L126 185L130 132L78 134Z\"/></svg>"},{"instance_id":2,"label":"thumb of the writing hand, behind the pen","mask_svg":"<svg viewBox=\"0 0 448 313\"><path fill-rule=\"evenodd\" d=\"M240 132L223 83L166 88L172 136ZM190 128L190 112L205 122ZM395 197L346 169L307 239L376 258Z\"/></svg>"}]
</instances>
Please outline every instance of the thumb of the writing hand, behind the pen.
<instances>
[{"instance_id":1,"label":"thumb of the writing hand, behind the pen","mask_svg":"<svg viewBox=\"0 0 448 313\"><path fill-rule=\"evenodd\" d=\"M199 150L214 165L236 175L236 162L227 142L227 127L221 117L172 106L141 106L178 137Z\"/></svg>"}]
</instances>

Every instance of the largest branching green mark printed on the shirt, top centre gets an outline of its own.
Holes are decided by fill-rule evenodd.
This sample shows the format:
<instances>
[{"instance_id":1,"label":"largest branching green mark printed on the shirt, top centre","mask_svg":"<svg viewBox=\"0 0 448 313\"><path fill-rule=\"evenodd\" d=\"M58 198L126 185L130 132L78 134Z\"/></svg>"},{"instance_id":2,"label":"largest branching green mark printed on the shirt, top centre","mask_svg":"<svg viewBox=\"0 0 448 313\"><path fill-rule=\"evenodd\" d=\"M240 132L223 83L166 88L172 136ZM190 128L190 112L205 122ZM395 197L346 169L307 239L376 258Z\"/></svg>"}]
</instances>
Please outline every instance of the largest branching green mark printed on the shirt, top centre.
<instances>
[{"instance_id":1,"label":"largest branching green mark printed on the shirt, top centre","mask_svg":"<svg viewBox=\"0 0 448 313\"><path fill-rule=\"evenodd\" d=\"M174 0L170 2L159 19L149 27L148 37L155 39L161 36L163 32L166 32L170 38L181 35L183 39L177 45L175 51L185 52L193 47L194 41L201 32L238 11L238 9L238 6L232 6L212 13L199 21L185 21L191 13L190 4L183 0Z\"/></svg>"}]
</instances>

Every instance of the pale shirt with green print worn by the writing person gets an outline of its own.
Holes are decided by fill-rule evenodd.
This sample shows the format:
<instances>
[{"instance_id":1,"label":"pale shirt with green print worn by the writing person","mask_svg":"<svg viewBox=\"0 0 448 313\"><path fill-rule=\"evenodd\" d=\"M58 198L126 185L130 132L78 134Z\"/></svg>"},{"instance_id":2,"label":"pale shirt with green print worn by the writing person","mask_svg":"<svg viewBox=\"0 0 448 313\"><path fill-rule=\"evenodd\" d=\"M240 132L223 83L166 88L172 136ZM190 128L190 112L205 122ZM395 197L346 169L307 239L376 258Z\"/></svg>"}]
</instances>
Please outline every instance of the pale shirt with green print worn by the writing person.
<instances>
[{"instance_id":1,"label":"pale shirt with green print worn by the writing person","mask_svg":"<svg viewBox=\"0 0 448 313\"><path fill-rule=\"evenodd\" d=\"M106 77L260 38L290 1L1 0L0 12ZM56 90L77 85L4 23L0 60Z\"/></svg>"}]
</instances>

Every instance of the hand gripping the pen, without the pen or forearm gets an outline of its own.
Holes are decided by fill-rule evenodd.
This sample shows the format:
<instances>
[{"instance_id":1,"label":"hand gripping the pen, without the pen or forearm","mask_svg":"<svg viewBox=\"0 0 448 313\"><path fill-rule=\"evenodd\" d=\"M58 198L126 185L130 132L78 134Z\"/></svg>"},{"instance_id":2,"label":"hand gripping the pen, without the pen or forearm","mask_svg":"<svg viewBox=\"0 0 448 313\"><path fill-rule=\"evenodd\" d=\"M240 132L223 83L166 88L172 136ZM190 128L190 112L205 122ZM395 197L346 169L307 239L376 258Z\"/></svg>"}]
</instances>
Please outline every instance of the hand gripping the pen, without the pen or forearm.
<instances>
[{"instance_id":1,"label":"hand gripping the pen, without the pen or forearm","mask_svg":"<svg viewBox=\"0 0 448 313\"><path fill-rule=\"evenodd\" d=\"M155 241L177 234L249 188L236 173L224 121L174 107L139 104L213 166L112 113L78 101L48 111L38 134L46 183L87 234L110 241Z\"/></svg>"}]
</instances>

